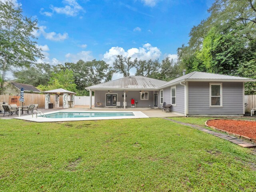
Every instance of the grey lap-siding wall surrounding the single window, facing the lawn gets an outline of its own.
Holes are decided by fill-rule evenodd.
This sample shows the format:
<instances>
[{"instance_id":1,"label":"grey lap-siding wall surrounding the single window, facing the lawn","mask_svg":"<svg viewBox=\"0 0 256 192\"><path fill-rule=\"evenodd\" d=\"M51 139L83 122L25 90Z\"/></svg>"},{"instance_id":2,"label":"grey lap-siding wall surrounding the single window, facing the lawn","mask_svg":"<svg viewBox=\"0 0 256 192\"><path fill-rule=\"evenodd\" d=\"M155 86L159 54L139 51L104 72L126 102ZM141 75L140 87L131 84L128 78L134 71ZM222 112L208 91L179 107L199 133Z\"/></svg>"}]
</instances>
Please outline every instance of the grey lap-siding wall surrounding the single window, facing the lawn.
<instances>
[{"instance_id":1,"label":"grey lap-siding wall surrounding the single window, facing the lawn","mask_svg":"<svg viewBox=\"0 0 256 192\"><path fill-rule=\"evenodd\" d=\"M188 82L188 114L243 114L243 83L222 82L222 106L210 107L210 82Z\"/></svg>"}]
</instances>

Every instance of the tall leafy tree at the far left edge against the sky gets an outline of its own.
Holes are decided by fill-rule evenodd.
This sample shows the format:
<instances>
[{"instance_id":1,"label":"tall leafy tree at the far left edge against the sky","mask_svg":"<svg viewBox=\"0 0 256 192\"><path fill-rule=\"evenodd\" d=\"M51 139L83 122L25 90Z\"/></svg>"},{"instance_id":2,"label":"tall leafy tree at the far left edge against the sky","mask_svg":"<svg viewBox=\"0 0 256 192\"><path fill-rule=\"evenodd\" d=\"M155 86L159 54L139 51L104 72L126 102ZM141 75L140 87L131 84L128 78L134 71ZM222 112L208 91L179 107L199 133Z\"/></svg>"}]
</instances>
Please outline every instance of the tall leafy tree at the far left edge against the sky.
<instances>
[{"instance_id":1,"label":"tall leafy tree at the far left edge against the sky","mask_svg":"<svg viewBox=\"0 0 256 192\"><path fill-rule=\"evenodd\" d=\"M37 21L22 16L20 6L15 7L11 1L0 1L0 68L2 82L0 94L4 87L6 72L15 67L30 66L37 58L43 58L32 34L37 30Z\"/></svg>"}]
</instances>

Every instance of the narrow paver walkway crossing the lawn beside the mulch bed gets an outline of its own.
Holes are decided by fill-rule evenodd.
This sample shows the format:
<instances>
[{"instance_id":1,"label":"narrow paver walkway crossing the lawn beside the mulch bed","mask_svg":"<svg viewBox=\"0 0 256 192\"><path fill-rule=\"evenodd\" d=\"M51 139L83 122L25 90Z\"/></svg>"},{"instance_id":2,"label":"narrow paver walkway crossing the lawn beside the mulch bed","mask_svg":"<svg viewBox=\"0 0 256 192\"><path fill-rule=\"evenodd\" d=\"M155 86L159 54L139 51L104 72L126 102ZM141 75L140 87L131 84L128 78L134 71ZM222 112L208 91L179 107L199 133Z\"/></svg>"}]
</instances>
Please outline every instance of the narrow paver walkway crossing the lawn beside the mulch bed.
<instances>
[{"instance_id":1,"label":"narrow paver walkway crossing the lawn beside the mulch bed","mask_svg":"<svg viewBox=\"0 0 256 192\"><path fill-rule=\"evenodd\" d=\"M163 119L168 120L168 121L172 121L172 122L175 122L175 123L178 123L178 124L181 124L181 125L190 126L192 128L195 128L195 129L198 129L200 131L206 132L208 134L214 135L214 136L216 136L218 138L222 138L222 139L228 140L228 141L230 141L230 142L232 142L234 144L237 144L239 146L242 146L242 147L256 148L255 144L252 144L250 142L246 142L246 141L244 141L244 140L242 140L240 138L237 138L235 136L226 135L226 134L223 134L223 133L212 131L212 130L204 128L204 127L200 127L200 126L197 126L197 125L193 125L193 124L189 124L189 123L184 123L184 122L172 120L172 119L169 119L169 118L164 118L163 117Z\"/></svg>"}]
</instances>

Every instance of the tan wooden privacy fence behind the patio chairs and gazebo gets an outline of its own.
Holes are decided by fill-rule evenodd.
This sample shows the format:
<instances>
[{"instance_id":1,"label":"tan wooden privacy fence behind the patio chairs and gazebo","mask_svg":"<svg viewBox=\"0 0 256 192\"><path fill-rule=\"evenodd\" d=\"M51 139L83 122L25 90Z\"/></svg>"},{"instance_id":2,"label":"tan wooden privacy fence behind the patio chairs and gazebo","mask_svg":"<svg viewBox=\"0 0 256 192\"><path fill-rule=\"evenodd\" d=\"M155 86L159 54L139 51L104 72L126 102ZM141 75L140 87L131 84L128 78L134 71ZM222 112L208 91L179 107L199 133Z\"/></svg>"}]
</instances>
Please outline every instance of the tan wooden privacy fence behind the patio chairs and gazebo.
<instances>
[{"instance_id":1,"label":"tan wooden privacy fence behind the patio chairs and gazebo","mask_svg":"<svg viewBox=\"0 0 256 192\"><path fill-rule=\"evenodd\" d=\"M8 104L16 104L22 106L22 102L19 101L20 96L14 95L0 95L0 102L6 102ZM50 95L50 102L54 104L56 100L55 95ZM30 104L38 104L38 108L44 108L45 94L32 94L24 93L24 104L28 106ZM60 107L62 107L63 96L60 95Z\"/></svg>"}]
</instances>

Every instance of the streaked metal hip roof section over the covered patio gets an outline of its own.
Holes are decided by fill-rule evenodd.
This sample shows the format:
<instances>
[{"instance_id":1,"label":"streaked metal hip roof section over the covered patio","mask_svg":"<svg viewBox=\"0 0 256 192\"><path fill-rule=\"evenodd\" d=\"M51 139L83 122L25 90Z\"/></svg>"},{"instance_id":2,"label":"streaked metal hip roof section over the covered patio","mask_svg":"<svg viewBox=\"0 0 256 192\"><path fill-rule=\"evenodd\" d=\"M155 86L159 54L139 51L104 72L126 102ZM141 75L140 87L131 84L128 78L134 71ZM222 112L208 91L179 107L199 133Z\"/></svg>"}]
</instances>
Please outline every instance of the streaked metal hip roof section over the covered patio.
<instances>
[{"instance_id":1,"label":"streaked metal hip roof section over the covered patio","mask_svg":"<svg viewBox=\"0 0 256 192\"><path fill-rule=\"evenodd\" d=\"M91 90L157 90L166 81L144 76L128 76L87 87Z\"/></svg>"}]
</instances>

